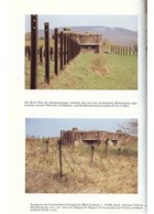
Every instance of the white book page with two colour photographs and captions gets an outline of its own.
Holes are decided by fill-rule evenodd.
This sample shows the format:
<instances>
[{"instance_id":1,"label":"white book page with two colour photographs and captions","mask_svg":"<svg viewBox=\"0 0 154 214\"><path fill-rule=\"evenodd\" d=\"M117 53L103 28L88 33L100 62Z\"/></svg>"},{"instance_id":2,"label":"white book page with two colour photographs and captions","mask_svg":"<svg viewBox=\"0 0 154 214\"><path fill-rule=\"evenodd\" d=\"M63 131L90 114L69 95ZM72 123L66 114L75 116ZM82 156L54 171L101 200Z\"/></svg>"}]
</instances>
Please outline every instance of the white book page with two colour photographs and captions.
<instances>
[{"instance_id":1,"label":"white book page with two colour photographs and captions","mask_svg":"<svg viewBox=\"0 0 154 214\"><path fill-rule=\"evenodd\" d=\"M145 1L8 2L8 213L146 213Z\"/></svg>"}]
</instances>

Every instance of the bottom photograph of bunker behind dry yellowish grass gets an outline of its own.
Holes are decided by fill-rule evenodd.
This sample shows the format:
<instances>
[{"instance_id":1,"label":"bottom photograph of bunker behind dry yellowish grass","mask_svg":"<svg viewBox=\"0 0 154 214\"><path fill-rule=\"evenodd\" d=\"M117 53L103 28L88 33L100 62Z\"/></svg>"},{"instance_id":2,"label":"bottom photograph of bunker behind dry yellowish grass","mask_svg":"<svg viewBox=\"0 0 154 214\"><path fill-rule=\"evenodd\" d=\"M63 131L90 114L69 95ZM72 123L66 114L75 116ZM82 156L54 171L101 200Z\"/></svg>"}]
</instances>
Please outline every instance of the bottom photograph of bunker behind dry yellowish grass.
<instances>
[{"instance_id":1,"label":"bottom photograph of bunker behind dry yellowish grass","mask_svg":"<svg viewBox=\"0 0 154 214\"><path fill-rule=\"evenodd\" d=\"M26 118L25 193L138 194L138 119Z\"/></svg>"}]
</instances>

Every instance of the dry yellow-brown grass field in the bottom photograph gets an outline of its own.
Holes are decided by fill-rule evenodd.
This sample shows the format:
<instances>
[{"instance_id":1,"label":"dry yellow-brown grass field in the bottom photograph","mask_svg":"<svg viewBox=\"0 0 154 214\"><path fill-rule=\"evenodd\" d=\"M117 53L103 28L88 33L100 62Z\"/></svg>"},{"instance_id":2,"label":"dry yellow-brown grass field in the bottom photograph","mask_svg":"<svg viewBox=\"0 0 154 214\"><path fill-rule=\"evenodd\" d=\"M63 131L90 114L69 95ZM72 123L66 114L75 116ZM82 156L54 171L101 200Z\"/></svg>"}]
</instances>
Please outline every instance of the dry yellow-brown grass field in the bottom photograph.
<instances>
[{"instance_id":1,"label":"dry yellow-brown grass field in the bottom photograph","mask_svg":"<svg viewBox=\"0 0 154 214\"><path fill-rule=\"evenodd\" d=\"M50 140L48 153L42 140L25 141L26 193L138 193L138 142L123 146L121 156L105 146L91 149L82 143L62 149L63 173L59 176L58 146Z\"/></svg>"}]
</instances>

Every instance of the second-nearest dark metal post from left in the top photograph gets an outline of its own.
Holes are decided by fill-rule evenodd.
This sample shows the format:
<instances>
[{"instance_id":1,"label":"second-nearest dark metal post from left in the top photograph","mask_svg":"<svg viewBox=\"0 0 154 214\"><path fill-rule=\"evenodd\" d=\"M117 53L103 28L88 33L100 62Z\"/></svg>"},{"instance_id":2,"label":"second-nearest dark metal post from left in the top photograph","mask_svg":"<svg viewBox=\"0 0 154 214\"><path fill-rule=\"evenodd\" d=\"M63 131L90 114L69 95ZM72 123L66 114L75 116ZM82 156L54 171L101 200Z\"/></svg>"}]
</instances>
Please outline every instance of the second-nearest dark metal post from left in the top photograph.
<instances>
[{"instance_id":1,"label":"second-nearest dark metal post from left in the top photograph","mask_svg":"<svg viewBox=\"0 0 154 214\"><path fill-rule=\"evenodd\" d=\"M50 24L44 23L44 42L45 42L45 83L50 84Z\"/></svg>"}]
</instances>

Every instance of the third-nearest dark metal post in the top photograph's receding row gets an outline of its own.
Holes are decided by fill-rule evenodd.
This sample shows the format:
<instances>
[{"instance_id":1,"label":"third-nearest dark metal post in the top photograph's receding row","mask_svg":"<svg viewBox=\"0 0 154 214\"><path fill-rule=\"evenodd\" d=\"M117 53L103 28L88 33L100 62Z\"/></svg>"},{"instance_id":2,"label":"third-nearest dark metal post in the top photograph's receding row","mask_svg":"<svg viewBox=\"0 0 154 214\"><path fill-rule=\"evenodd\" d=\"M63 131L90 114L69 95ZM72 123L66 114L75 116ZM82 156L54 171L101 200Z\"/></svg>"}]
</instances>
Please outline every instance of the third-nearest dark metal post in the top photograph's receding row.
<instances>
[{"instance_id":1,"label":"third-nearest dark metal post in the top photograph's receding row","mask_svg":"<svg viewBox=\"0 0 154 214\"><path fill-rule=\"evenodd\" d=\"M54 32L54 39L55 39L55 75L58 76L58 29L55 29Z\"/></svg>"}]
</instances>

